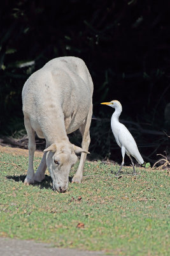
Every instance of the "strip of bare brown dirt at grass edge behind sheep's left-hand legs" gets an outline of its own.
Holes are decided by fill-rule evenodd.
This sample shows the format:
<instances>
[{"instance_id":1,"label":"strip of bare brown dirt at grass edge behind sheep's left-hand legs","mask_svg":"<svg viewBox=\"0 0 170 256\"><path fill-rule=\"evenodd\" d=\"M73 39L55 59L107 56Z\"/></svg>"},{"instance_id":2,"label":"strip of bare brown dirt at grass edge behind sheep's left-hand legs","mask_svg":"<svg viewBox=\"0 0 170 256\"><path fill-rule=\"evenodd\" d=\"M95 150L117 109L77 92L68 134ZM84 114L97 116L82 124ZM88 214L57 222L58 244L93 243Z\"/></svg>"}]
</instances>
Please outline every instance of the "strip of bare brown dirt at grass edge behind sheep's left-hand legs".
<instances>
[{"instance_id":1,"label":"strip of bare brown dirt at grass edge behind sheep's left-hand legs","mask_svg":"<svg viewBox=\"0 0 170 256\"><path fill-rule=\"evenodd\" d=\"M0 154L1 153L8 153L12 155L20 155L20 156L29 156L29 150L24 148L11 148L11 147L4 147L0 145ZM43 157L43 152L36 150L35 152L36 157Z\"/></svg>"}]
</instances>

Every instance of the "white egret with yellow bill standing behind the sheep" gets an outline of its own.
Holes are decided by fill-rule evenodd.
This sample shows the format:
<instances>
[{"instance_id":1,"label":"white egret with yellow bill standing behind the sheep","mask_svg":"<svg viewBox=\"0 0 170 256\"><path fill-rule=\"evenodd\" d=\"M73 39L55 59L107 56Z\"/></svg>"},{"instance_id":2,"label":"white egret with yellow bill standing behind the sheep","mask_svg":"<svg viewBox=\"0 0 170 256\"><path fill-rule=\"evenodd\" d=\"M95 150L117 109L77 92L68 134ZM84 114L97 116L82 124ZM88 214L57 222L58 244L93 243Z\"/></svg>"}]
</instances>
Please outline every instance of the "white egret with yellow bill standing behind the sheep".
<instances>
[{"instance_id":1,"label":"white egret with yellow bill standing behind the sheep","mask_svg":"<svg viewBox=\"0 0 170 256\"><path fill-rule=\"evenodd\" d=\"M122 112L122 105L118 100L111 100L111 102L103 102L101 104L108 105L111 108L115 108L115 112L111 116L111 130L113 132L113 135L115 136L115 140L117 141L122 151L122 164L120 166L120 169L118 170L117 175L119 175L122 166L124 166L125 154L127 154L127 156L129 156L129 158L131 159L134 174L136 174L136 170L134 168L134 163L131 156L133 156L139 164L143 164L144 161L141 157L141 154L139 153L136 141L132 137L131 132L129 132L125 125L121 124L118 120Z\"/></svg>"}]
</instances>

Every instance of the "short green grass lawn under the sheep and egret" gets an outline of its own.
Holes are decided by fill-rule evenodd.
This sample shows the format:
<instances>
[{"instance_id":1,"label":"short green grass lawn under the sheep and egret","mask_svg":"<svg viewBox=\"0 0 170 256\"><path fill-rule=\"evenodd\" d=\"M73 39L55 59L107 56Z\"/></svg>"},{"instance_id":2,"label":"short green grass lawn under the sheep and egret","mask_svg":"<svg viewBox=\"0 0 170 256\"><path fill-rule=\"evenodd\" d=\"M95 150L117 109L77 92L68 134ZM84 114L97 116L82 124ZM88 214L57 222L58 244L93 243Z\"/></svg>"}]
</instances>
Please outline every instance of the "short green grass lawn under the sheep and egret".
<instances>
[{"instance_id":1,"label":"short green grass lawn under the sheep and egret","mask_svg":"<svg viewBox=\"0 0 170 256\"><path fill-rule=\"evenodd\" d=\"M59 194L49 175L41 184L24 186L27 157L2 153L0 161L0 236L110 255L170 255L166 171L137 168L133 177L124 168L118 179L110 175L118 166L87 162L83 182L69 183Z\"/></svg>"}]
</instances>

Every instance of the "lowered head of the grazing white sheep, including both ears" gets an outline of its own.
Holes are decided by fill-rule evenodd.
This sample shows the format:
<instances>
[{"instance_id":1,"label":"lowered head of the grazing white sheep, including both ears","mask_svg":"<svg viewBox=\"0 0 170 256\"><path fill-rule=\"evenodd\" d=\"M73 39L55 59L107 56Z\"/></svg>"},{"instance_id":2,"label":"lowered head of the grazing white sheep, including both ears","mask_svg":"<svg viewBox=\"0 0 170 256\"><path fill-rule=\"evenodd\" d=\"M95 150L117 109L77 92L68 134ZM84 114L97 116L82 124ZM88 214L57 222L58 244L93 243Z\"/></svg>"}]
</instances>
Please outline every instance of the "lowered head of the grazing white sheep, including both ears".
<instances>
[{"instance_id":1,"label":"lowered head of the grazing white sheep, including both ears","mask_svg":"<svg viewBox=\"0 0 170 256\"><path fill-rule=\"evenodd\" d=\"M66 192L69 172L78 159L76 154L89 152L71 143L53 143L44 151L47 152L46 165L53 180L53 189L60 193Z\"/></svg>"}]
</instances>

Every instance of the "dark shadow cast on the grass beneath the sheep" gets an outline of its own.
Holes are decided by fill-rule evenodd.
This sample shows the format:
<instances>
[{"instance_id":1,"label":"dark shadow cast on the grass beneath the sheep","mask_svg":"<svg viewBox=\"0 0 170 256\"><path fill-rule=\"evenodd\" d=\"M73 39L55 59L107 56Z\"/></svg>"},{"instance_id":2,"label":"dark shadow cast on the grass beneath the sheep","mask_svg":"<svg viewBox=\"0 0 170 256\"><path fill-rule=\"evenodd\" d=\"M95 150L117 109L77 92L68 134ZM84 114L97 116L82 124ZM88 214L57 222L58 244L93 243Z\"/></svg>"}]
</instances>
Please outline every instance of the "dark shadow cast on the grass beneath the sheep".
<instances>
[{"instance_id":1,"label":"dark shadow cast on the grass beneath the sheep","mask_svg":"<svg viewBox=\"0 0 170 256\"><path fill-rule=\"evenodd\" d=\"M19 176L6 176L7 179L9 180L15 180L15 182L23 182L25 180L26 175L19 175ZM73 179L73 176L69 177L69 182L71 182L71 180ZM52 189L53 190L53 186L52 186L52 178L48 175L45 175L45 179L42 180L41 182L37 182L35 181L34 184L32 184L31 186L38 186L39 189Z\"/></svg>"}]
</instances>

